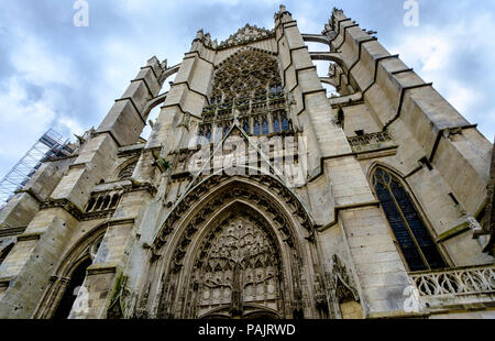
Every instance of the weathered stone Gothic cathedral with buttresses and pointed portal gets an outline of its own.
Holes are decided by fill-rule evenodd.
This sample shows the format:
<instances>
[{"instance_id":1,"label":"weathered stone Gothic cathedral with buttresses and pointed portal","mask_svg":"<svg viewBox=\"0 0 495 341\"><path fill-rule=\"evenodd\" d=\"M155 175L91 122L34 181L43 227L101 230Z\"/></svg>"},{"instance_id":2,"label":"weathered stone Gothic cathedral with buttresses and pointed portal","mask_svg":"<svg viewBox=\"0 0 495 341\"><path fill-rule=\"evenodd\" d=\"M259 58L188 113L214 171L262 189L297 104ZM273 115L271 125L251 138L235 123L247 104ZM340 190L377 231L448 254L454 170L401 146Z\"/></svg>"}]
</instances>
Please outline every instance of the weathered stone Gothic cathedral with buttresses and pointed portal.
<instances>
[{"instance_id":1,"label":"weathered stone Gothic cathedral with buttresses and pointed portal","mask_svg":"<svg viewBox=\"0 0 495 341\"><path fill-rule=\"evenodd\" d=\"M492 150L341 10L201 30L0 212L0 317L495 317Z\"/></svg>"}]
</instances>

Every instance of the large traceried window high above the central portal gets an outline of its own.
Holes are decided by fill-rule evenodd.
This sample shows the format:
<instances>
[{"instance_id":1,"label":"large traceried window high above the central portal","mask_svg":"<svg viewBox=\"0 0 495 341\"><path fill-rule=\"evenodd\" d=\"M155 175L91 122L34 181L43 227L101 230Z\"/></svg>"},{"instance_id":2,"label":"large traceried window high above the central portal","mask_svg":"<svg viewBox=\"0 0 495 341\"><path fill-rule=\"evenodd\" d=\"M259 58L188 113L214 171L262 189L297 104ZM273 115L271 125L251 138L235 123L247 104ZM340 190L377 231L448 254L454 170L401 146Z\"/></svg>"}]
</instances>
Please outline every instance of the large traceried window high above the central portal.
<instances>
[{"instance_id":1,"label":"large traceried window high above the central portal","mask_svg":"<svg viewBox=\"0 0 495 341\"><path fill-rule=\"evenodd\" d=\"M234 118L244 132L256 136L290 131L278 62L270 53L243 50L220 64L210 105L202 111L198 143L208 131L226 136Z\"/></svg>"}]
</instances>

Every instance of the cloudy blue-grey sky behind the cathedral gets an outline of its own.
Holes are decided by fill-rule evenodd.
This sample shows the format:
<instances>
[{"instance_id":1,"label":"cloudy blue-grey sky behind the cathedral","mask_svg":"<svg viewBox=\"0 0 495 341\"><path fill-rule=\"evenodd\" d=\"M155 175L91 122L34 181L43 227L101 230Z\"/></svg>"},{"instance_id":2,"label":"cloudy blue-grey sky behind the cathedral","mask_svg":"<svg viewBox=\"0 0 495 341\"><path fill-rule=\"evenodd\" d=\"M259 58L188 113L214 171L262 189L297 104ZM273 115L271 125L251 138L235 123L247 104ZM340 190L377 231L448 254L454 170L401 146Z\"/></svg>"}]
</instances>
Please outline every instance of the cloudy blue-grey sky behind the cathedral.
<instances>
[{"instance_id":1,"label":"cloudy blue-grey sky behind the cathedral","mask_svg":"<svg viewBox=\"0 0 495 341\"><path fill-rule=\"evenodd\" d=\"M333 7L378 31L493 141L495 0L418 0L418 28L404 25L404 0L87 1L89 26L76 28L75 0L0 0L0 179L48 128L98 127L153 55L180 63L201 28L219 41L245 23L272 29L279 3L302 33L321 32Z\"/></svg>"}]
</instances>

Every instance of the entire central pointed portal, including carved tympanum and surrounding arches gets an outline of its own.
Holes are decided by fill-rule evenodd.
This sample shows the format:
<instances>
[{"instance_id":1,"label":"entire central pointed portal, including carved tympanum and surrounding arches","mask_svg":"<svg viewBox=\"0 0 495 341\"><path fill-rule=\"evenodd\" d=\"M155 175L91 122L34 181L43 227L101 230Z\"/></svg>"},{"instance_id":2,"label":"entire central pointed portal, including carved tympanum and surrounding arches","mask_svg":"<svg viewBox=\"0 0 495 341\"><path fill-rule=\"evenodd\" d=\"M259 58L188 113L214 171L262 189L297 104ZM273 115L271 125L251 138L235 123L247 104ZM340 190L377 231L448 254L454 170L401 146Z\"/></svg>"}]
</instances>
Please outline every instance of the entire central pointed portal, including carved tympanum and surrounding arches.
<instances>
[{"instance_id":1,"label":"entire central pointed portal, including carved tympanum and surrounding arches","mask_svg":"<svg viewBox=\"0 0 495 341\"><path fill-rule=\"evenodd\" d=\"M270 177L201 182L151 246L136 317L317 317L305 305L318 256L307 219L297 198Z\"/></svg>"}]
</instances>

